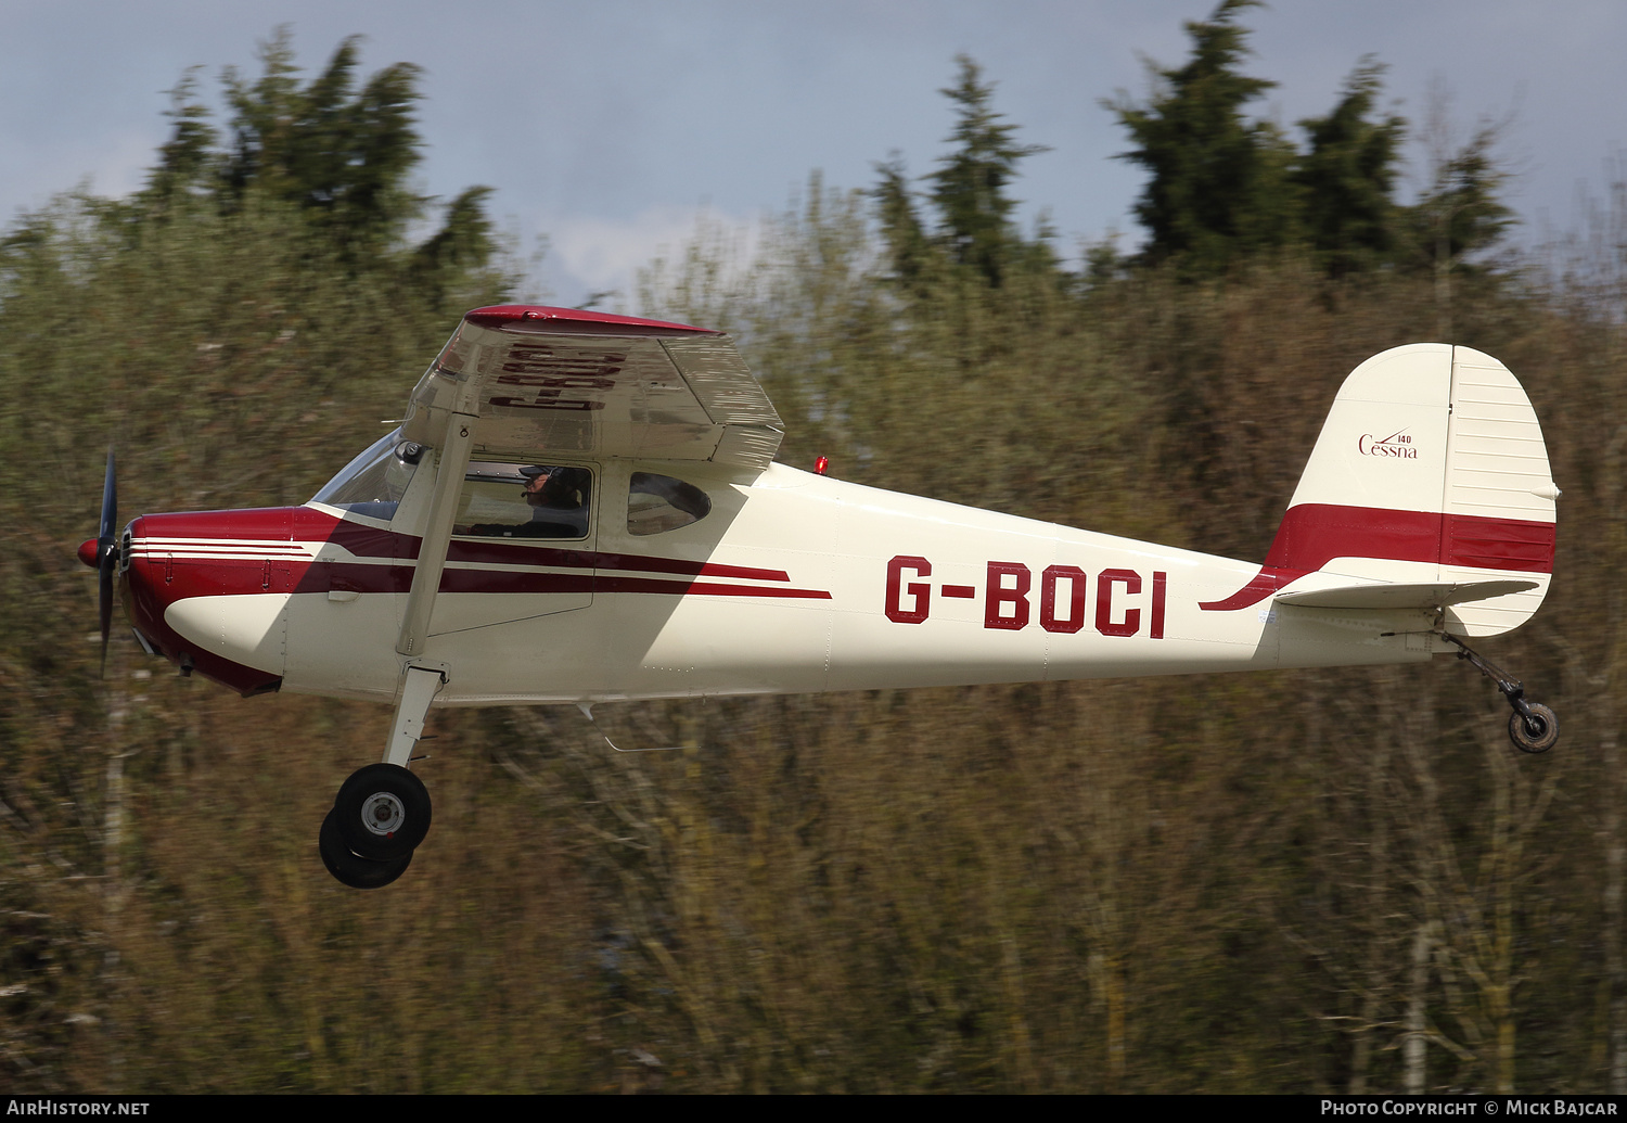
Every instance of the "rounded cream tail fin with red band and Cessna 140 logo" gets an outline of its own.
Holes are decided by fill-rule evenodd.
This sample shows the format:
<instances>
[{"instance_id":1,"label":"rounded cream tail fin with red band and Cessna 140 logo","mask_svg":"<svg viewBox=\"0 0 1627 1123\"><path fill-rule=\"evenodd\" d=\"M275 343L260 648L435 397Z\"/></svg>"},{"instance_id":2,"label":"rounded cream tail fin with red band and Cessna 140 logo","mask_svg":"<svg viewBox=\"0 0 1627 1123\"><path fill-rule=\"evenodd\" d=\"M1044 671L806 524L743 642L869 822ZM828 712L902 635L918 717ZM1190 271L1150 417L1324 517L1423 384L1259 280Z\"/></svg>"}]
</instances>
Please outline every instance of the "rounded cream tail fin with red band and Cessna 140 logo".
<instances>
[{"instance_id":1,"label":"rounded cream tail fin with red band and Cessna 140 logo","mask_svg":"<svg viewBox=\"0 0 1627 1123\"><path fill-rule=\"evenodd\" d=\"M1500 635L1547 594L1557 496L1536 412L1507 366L1468 347L1398 347L1344 381L1259 576L1202 607L1245 607L1323 573L1354 578L1352 594L1442 588L1448 631ZM1318 604L1339 591L1318 588Z\"/></svg>"}]
</instances>

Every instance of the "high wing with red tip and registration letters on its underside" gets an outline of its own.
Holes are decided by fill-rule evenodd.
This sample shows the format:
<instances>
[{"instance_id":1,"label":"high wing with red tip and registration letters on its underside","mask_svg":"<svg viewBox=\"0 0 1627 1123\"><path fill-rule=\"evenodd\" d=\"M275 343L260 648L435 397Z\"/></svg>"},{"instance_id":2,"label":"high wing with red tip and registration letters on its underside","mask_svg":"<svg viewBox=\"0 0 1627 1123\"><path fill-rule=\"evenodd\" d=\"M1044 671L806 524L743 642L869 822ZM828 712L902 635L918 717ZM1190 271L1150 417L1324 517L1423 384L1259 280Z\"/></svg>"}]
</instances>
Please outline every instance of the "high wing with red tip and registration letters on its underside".
<instances>
[{"instance_id":1,"label":"high wing with red tip and registration letters on its underside","mask_svg":"<svg viewBox=\"0 0 1627 1123\"><path fill-rule=\"evenodd\" d=\"M447 446L472 422L478 459L709 461L766 469L784 425L722 332L506 304L459 324L418 381L403 436Z\"/></svg>"}]
</instances>

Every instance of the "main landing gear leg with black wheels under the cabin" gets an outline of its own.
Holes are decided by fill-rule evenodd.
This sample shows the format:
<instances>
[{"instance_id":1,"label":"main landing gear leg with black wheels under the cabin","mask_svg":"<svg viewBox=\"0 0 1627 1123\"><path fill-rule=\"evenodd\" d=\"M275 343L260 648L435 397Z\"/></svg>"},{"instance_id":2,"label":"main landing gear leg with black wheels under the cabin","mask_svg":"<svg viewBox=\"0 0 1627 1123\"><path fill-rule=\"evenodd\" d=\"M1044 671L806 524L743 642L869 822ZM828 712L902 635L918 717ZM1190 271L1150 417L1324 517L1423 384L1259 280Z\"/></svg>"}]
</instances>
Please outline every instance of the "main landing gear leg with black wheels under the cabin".
<instances>
[{"instance_id":1,"label":"main landing gear leg with black wheels under the cabin","mask_svg":"<svg viewBox=\"0 0 1627 1123\"><path fill-rule=\"evenodd\" d=\"M430 833L430 793L407 765L446 672L408 666L403 674L384 760L351 773L322 820L322 864L351 889L389 885Z\"/></svg>"}]
</instances>

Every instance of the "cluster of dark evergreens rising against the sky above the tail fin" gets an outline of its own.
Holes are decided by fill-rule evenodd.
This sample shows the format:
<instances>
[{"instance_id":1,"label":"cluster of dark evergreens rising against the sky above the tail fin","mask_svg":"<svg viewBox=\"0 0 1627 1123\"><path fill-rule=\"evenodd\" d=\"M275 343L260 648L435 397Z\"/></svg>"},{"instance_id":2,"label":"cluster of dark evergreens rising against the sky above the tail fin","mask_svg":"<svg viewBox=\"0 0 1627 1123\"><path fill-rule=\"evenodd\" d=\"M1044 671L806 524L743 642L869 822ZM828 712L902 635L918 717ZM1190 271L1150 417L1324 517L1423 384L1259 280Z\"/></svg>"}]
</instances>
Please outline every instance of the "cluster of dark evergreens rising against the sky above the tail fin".
<instances>
[{"instance_id":1,"label":"cluster of dark evergreens rising against the sky above the tail fin","mask_svg":"<svg viewBox=\"0 0 1627 1123\"><path fill-rule=\"evenodd\" d=\"M1326 117L1300 122L1303 151L1274 122L1245 117L1277 85L1240 70L1248 29L1238 16L1259 2L1222 0L1209 20L1188 23L1191 57L1149 65L1145 104L1123 93L1103 103L1136 143L1121 158L1149 173L1136 203L1147 228L1141 259L1202 277L1295 246L1333 275L1445 272L1495 246L1511 220L1497 199L1500 125L1482 122L1459 146L1435 137L1430 184L1401 205L1393 192L1407 122L1373 117L1385 72L1373 59L1357 63Z\"/></svg>"}]
</instances>

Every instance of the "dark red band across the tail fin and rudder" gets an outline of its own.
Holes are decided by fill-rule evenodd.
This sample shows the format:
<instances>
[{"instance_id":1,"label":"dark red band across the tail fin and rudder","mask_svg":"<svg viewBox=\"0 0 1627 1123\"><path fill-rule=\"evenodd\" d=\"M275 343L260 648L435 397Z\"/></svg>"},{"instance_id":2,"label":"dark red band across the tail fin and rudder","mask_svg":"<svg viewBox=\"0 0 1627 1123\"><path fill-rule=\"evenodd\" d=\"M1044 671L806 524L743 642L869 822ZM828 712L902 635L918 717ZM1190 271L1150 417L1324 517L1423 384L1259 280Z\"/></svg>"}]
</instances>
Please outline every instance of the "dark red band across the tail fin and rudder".
<instances>
[{"instance_id":1,"label":"dark red band across the tail fin and rudder","mask_svg":"<svg viewBox=\"0 0 1627 1123\"><path fill-rule=\"evenodd\" d=\"M1300 503L1282 516L1259 573L1232 596L1197 607L1204 612L1246 609L1334 558L1552 573L1554 540L1552 522L1531 519Z\"/></svg>"}]
</instances>

